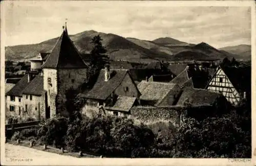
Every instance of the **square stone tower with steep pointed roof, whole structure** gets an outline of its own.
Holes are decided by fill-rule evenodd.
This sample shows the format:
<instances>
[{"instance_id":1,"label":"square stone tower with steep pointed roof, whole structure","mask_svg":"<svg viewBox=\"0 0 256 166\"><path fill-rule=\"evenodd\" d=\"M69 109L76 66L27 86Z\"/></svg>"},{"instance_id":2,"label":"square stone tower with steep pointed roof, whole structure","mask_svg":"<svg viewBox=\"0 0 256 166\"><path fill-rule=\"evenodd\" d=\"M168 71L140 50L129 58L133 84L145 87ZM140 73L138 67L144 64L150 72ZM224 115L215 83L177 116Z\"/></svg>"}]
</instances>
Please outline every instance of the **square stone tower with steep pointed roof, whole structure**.
<instances>
[{"instance_id":1,"label":"square stone tower with steep pointed roof, whole structure","mask_svg":"<svg viewBox=\"0 0 256 166\"><path fill-rule=\"evenodd\" d=\"M67 91L77 89L88 81L88 65L70 39L67 26L54 45L51 54L42 65L44 90L46 92L46 117L59 113L68 116Z\"/></svg>"}]
</instances>

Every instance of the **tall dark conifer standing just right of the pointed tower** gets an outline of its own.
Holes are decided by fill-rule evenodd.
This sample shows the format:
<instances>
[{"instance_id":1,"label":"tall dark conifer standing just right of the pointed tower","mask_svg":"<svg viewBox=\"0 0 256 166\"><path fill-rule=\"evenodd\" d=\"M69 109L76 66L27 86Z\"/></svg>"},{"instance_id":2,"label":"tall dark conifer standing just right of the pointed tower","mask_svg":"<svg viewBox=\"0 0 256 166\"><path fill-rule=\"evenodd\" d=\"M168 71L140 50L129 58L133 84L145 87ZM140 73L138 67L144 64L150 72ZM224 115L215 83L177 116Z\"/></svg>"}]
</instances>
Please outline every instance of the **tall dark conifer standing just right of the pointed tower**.
<instances>
[{"instance_id":1,"label":"tall dark conifer standing just right of the pointed tower","mask_svg":"<svg viewBox=\"0 0 256 166\"><path fill-rule=\"evenodd\" d=\"M90 74L94 76L106 64L109 64L109 57L105 55L106 49L102 46L102 39L99 35L94 36L91 43L94 45L90 55Z\"/></svg>"}]
</instances>

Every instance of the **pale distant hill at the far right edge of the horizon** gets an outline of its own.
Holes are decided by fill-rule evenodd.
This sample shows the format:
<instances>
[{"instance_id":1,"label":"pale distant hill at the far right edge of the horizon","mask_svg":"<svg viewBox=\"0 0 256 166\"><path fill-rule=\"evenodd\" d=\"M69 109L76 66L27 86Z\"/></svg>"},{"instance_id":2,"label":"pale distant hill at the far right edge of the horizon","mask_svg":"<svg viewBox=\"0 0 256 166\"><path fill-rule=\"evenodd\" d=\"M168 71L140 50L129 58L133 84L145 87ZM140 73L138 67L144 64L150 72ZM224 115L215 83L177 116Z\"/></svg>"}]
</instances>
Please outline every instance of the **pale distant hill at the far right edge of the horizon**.
<instances>
[{"instance_id":1,"label":"pale distant hill at the far right edge of the horizon","mask_svg":"<svg viewBox=\"0 0 256 166\"><path fill-rule=\"evenodd\" d=\"M226 46L224 48L220 48L219 50L232 54L236 59L251 59L251 45L240 44L235 46Z\"/></svg>"}]
</instances>

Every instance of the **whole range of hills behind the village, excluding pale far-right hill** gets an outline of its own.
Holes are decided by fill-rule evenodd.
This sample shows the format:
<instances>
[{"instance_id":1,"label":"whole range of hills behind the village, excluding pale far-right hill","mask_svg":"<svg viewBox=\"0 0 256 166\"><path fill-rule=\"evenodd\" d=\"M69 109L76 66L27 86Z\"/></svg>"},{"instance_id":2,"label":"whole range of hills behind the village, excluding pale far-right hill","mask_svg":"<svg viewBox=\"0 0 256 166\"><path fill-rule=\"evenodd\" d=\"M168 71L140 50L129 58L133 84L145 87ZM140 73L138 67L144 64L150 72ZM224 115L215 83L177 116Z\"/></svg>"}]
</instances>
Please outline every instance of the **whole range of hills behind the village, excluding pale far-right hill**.
<instances>
[{"instance_id":1,"label":"whole range of hills behind the village, excluding pale far-right hill","mask_svg":"<svg viewBox=\"0 0 256 166\"><path fill-rule=\"evenodd\" d=\"M93 45L91 40L100 35L102 45L106 47L107 54L112 60L127 60L131 62L152 62L157 60L187 60L198 58L223 59L225 57L239 57L229 48L229 51L218 50L207 43L190 44L170 37L158 38L153 41L136 38L124 38L115 34L106 34L93 30L70 35L80 53L90 53ZM7 46L6 60L22 61L37 56L41 51L51 52L58 37L37 44ZM223 48L225 49L225 48ZM227 48L226 48L227 49ZM247 50L243 50L244 54ZM190 56L190 57L189 57ZM248 56L247 56L248 57ZM244 58L240 56L240 58ZM240 59L238 58L238 59Z\"/></svg>"}]
</instances>

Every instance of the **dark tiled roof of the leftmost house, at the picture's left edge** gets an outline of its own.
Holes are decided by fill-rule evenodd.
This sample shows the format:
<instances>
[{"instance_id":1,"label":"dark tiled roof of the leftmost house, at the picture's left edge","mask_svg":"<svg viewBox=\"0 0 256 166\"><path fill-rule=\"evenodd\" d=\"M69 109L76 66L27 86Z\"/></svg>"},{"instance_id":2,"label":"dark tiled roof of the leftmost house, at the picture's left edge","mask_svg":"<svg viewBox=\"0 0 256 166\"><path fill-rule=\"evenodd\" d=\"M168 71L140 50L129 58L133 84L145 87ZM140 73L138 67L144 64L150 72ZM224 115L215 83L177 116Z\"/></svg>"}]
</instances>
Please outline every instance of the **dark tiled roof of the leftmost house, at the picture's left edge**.
<instances>
[{"instance_id":1,"label":"dark tiled roof of the leftmost house, at the picture's left edge","mask_svg":"<svg viewBox=\"0 0 256 166\"><path fill-rule=\"evenodd\" d=\"M27 85L28 85L28 75L25 75L22 79L19 80L19 82L15 84L15 86L13 86L13 88L11 88L11 90L9 90L6 93L6 95L22 97L23 90L26 88Z\"/></svg>"}]
</instances>

